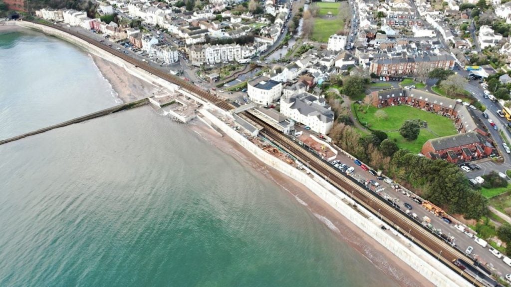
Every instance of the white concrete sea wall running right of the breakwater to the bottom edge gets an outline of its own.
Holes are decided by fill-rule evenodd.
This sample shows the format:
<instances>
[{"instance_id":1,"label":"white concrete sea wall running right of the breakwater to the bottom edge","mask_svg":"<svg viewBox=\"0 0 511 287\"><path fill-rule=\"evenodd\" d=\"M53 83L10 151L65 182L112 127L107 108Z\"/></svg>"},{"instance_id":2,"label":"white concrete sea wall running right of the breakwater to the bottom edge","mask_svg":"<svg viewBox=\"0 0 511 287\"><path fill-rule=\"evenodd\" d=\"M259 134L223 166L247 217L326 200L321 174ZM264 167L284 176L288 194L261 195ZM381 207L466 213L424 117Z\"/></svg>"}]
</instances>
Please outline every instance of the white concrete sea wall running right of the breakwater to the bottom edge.
<instances>
[{"instance_id":1,"label":"white concrete sea wall running right of the breakwater to the bottom edge","mask_svg":"<svg viewBox=\"0 0 511 287\"><path fill-rule=\"evenodd\" d=\"M345 218L349 219L365 233L373 237L377 242L395 254L398 258L406 262L406 264L431 281L431 283L441 287L471 286L468 281L464 280L456 272L443 265L435 257L416 246L413 242L398 233L396 230L393 230L392 228L390 230L393 232L382 230L380 227L382 225L387 225L379 218L375 218L368 210L363 209L361 206L357 206L356 210L349 204L346 204L345 201L350 202L351 205L353 205L354 202L328 181L314 175L314 173L311 173L314 176L308 175L304 171L293 168L293 166L263 151L243 135L227 126L211 112L205 109L201 109L199 112L213 125L217 126L226 135L233 138L243 148L255 157L259 158L265 164L268 164L290 178L303 183L314 194L327 202ZM366 216L363 216L363 214Z\"/></svg>"}]
</instances>

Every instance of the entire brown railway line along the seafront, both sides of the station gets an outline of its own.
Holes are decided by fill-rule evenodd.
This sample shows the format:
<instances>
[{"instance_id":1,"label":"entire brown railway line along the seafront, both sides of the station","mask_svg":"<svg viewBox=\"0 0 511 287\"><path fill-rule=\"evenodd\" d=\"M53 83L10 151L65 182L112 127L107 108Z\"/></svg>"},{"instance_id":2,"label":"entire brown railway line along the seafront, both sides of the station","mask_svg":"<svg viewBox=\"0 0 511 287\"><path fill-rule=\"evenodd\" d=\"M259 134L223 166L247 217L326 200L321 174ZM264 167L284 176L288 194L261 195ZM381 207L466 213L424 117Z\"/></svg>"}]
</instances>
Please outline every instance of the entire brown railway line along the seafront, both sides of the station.
<instances>
[{"instance_id":1,"label":"entire brown railway line along the seafront, both sides of the station","mask_svg":"<svg viewBox=\"0 0 511 287\"><path fill-rule=\"evenodd\" d=\"M55 27L51 25L45 25L41 23L37 23L38 25L43 25L47 27L51 27L62 32L71 34L77 38L80 38L90 44L93 44L100 49L119 57L126 62L135 65L138 68L141 68L147 73L155 75L161 79L168 81L169 83L179 85L181 89L188 91L190 93L195 94L197 97L201 98L204 101L213 103L219 108L228 111L234 109L234 106L219 100L214 95L210 94L202 90L201 88L191 84L187 81L181 80L178 77L175 77L170 74L166 74L164 71L161 71L157 68L150 66L145 62L141 62L135 60L128 55L125 55L121 52L115 51L111 49L111 47L90 39L85 35L81 35L74 31L69 31L67 29L63 29L61 27ZM297 143L281 134L279 131L276 131L273 127L266 124L259 117L251 114L248 111L242 112L247 118L251 119L253 122L258 123L262 127L264 127L264 132L271 137L273 140L280 141L285 143L285 145L281 145L282 148L286 149L290 154L300 159L303 163L306 163L316 171L316 173L323 178L328 178L329 182L334 186L339 188L346 195L350 196L357 202L357 204L362 205L367 210L373 212L375 216L380 217L383 221L386 222L389 226L393 226L396 228L401 234L406 237L409 237L413 242L423 248L425 251L430 253L432 256L437 257L440 261L442 261L446 266L460 274L467 281L473 283L476 286L485 286L482 283L478 282L474 277L469 276L467 273L463 272L459 267L453 264L453 261L457 258L464 258L464 255L461 254L458 250L455 250L451 246L445 244L438 237L435 237L429 230L426 230L423 226L416 224L415 222L408 219L404 213L401 213L396 208L390 206L388 202L384 201L381 198L378 198L376 194L367 191L361 184L353 182L351 179L345 177L338 170L334 169L332 166L328 165L326 162L317 158L316 156L310 154L305 149L299 147ZM470 262L473 264L473 261Z\"/></svg>"}]
</instances>

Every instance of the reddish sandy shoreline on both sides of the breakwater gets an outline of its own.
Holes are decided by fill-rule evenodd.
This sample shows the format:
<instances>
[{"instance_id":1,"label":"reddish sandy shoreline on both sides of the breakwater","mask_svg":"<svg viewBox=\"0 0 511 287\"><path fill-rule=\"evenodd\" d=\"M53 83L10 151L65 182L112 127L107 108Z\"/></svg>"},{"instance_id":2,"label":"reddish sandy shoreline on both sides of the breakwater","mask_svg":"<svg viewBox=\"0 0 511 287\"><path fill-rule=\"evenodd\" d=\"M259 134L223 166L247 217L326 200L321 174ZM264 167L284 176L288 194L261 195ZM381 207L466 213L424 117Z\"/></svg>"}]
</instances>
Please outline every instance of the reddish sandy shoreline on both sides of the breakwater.
<instances>
[{"instance_id":1,"label":"reddish sandy shoreline on both sides of the breakwater","mask_svg":"<svg viewBox=\"0 0 511 287\"><path fill-rule=\"evenodd\" d=\"M0 31L13 30L22 31L26 28L18 26L0 25ZM87 52L87 51L85 51ZM130 75L124 68L108 60L92 55L102 76L110 83L112 89L117 93L118 98L123 102L149 97L151 92L158 89L157 86ZM339 240L348 243L352 248L360 252L374 266L380 269L385 275L397 281L401 286L433 286L425 277L420 275L396 255L388 251L377 241L363 232L359 227L344 218L326 202L318 198L311 190L298 182L290 180L284 174L267 166L259 159L253 157L236 141L228 136L220 137L211 128L200 123L197 119L187 125L190 130L196 132L202 139L214 145L227 155L233 156L240 163L250 166L255 172L271 179L289 196L298 201L302 206L315 216L321 223L327 225L334 232ZM229 153L226 152L229 150Z\"/></svg>"}]
</instances>

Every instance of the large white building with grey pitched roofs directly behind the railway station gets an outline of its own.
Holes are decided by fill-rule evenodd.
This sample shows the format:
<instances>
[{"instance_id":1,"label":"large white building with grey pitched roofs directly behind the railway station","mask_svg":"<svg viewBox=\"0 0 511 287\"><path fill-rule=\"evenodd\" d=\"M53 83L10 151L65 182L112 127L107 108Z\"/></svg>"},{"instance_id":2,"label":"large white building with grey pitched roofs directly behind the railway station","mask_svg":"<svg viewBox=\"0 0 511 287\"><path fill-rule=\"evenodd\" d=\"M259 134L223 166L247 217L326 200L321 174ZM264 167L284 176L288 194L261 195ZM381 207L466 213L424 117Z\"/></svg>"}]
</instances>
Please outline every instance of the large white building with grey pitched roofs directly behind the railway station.
<instances>
[{"instance_id":1,"label":"large white building with grey pitched roofs directly behind the railway station","mask_svg":"<svg viewBox=\"0 0 511 287\"><path fill-rule=\"evenodd\" d=\"M321 134L328 134L334 124L334 112L326 101L308 92L282 99L281 113Z\"/></svg>"}]
</instances>

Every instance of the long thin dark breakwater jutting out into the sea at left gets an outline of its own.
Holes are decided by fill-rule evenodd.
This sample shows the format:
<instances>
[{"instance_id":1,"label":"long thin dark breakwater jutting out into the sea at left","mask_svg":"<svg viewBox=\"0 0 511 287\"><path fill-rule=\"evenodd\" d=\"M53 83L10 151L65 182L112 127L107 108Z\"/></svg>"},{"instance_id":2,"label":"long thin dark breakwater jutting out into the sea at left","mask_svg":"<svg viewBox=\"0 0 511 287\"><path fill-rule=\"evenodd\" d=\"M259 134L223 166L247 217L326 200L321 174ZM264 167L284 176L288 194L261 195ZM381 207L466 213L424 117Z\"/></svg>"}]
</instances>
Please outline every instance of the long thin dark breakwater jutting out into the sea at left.
<instances>
[{"instance_id":1,"label":"long thin dark breakwater jutting out into the sea at left","mask_svg":"<svg viewBox=\"0 0 511 287\"><path fill-rule=\"evenodd\" d=\"M84 115L84 116L76 117L76 118L70 119L69 121L62 122L60 124L56 124L56 125L53 125L53 126L45 127L45 128L42 128L42 129L38 129L38 130L35 130L35 131L31 131L31 132L28 132L28 133L17 135L17 136L11 137L11 138L0 140L0 145L3 145L4 143L8 143L8 142L11 142L11 141L15 141L15 140L18 140L18 139L21 139L21 138L25 138L27 136L31 136L31 135L47 132L47 131L50 131L50 130L53 130L53 129L56 129L56 128L61 128L61 127L65 127L65 126L68 126L68 125L85 122L85 121L88 121L89 119L92 119L92 118L96 118L96 117L104 116L104 115L107 115L107 114L111 114L111 113L115 113L115 112L119 112L119 111L123 111L123 110L129 110L129 109L132 109L132 108L140 107L142 105L147 104L148 102L149 102L149 100L146 98L146 99L137 100L137 101L134 101L134 102L122 104L122 105L119 105L119 106L114 106L114 107L111 107L111 108L108 108L108 109L101 110L99 112L94 112L94 113L90 113L90 114L87 114L87 115Z\"/></svg>"}]
</instances>

